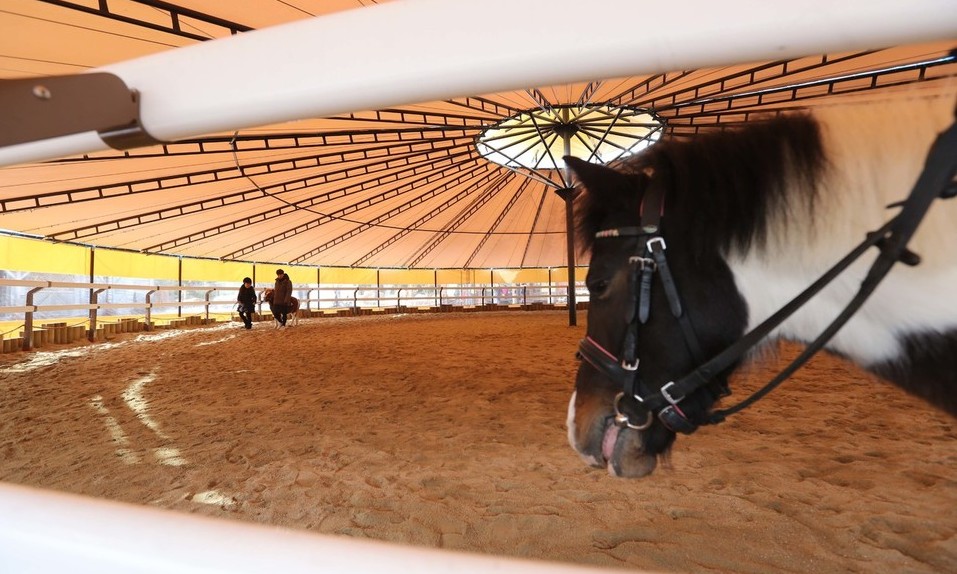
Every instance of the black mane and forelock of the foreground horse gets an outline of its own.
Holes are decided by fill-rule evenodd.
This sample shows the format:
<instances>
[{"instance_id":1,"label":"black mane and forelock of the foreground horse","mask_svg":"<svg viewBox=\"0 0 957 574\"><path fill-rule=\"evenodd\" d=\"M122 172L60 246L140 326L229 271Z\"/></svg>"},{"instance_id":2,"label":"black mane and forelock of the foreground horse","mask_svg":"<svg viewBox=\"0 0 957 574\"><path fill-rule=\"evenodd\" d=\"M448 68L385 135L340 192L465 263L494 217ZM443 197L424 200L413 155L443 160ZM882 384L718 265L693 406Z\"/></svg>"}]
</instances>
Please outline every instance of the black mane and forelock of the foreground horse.
<instances>
[{"instance_id":1,"label":"black mane and forelock of the foreground horse","mask_svg":"<svg viewBox=\"0 0 957 574\"><path fill-rule=\"evenodd\" d=\"M665 187L663 226L688 238L695 253L762 246L772 219L786 224L797 208L812 209L826 164L820 126L805 114L690 139L672 137L614 166L634 189L580 194L580 246L591 250L610 214L634 214L637 220L640 196L649 185Z\"/></svg>"}]
</instances>

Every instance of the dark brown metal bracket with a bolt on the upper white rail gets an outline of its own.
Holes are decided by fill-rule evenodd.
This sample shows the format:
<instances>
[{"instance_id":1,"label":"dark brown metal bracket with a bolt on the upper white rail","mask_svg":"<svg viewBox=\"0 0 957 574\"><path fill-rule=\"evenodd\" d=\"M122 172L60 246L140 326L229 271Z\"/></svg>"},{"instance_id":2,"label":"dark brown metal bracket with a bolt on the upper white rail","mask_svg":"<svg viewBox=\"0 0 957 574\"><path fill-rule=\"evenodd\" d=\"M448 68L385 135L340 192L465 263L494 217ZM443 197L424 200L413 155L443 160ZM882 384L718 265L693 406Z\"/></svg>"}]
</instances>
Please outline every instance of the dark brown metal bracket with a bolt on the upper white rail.
<instances>
[{"instance_id":1,"label":"dark brown metal bracket with a bolt on the upper white rail","mask_svg":"<svg viewBox=\"0 0 957 574\"><path fill-rule=\"evenodd\" d=\"M114 149L159 143L140 122L140 99L105 72L0 80L0 147L95 131Z\"/></svg>"}]
</instances>

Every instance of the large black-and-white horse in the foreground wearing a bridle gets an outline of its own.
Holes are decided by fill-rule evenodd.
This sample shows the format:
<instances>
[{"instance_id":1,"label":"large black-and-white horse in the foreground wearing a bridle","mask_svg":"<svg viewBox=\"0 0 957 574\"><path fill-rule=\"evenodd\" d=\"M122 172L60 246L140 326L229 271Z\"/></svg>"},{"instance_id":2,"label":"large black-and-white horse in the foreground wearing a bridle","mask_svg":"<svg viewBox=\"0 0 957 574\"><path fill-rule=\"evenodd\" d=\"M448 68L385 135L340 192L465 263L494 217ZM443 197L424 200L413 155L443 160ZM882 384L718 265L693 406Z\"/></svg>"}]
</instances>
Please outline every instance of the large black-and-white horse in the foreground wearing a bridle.
<instances>
[{"instance_id":1,"label":"large black-and-white horse in the foreground wearing a bridle","mask_svg":"<svg viewBox=\"0 0 957 574\"><path fill-rule=\"evenodd\" d=\"M759 351L775 340L814 341L880 257L869 245L882 248L884 238L869 233L898 212L954 122L951 95L781 113L671 137L611 166L566 157L579 188L580 251L590 257L566 421L580 457L613 476L647 476L677 433L722 420L714 407L737 367L767 356ZM957 153L949 160L941 197L957 191ZM865 238L859 259L769 328L763 347L699 367ZM957 416L955 239L957 200L934 201L900 252L910 266L894 266L825 348Z\"/></svg>"}]
</instances>

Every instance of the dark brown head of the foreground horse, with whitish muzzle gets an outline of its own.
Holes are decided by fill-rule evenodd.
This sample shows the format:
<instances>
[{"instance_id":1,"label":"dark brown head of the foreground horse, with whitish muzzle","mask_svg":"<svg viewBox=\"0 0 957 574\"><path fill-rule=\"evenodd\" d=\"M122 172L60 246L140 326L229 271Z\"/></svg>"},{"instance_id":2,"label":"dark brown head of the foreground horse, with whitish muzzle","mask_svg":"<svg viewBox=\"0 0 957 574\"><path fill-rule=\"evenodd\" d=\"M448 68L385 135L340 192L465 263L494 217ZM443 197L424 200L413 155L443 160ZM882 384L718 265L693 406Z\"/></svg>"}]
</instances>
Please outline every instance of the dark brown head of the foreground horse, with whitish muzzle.
<instances>
[{"instance_id":1,"label":"dark brown head of the foreground horse, with whitish muzzle","mask_svg":"<svg viewBox=\"0 0 957 574\"><path fill-rule=\"evenodd\" d=\"M747 310L718 246L697 228L710 214L681 205L666 165L566 163L584 187L576 219L590 251L568 438L592 466L641 477L667 457L676 432L693 432L727 392L730 369L688 396L668 391L741 336Z\"/></svg>"}]
</instances>

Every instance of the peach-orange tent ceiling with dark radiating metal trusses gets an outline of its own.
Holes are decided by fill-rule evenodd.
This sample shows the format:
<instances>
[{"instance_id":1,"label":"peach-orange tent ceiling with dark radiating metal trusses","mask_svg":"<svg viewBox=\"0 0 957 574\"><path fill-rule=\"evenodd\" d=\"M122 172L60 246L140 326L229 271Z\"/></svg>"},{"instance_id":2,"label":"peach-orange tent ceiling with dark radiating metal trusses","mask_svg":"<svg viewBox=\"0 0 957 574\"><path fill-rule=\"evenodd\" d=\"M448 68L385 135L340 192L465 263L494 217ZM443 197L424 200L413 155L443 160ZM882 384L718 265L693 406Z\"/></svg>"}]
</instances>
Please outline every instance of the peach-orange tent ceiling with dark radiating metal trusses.
<instances>
[{"instance_id":1,"label":"peach-orange tent ceiling with dark radiating metal trusses","mask_svg":"<svg viewBox=\"0 0 957 574\"><path fill-rule=\"evenodd\" d=\"M107 12L101 0L6 0L0 78L73 74L374 3L109 0ZM694 137L784 110L932 95L957 74L941 59L955 45L529 86L14 166L0 169L0 229L245 261L561 266L562 200L554 186L485 159L475 139L487 128L591 103L653 109L664 137Z\"/></svg>"}]
</instances>

